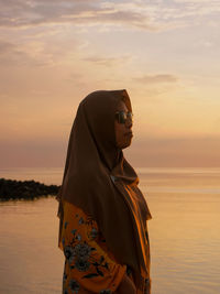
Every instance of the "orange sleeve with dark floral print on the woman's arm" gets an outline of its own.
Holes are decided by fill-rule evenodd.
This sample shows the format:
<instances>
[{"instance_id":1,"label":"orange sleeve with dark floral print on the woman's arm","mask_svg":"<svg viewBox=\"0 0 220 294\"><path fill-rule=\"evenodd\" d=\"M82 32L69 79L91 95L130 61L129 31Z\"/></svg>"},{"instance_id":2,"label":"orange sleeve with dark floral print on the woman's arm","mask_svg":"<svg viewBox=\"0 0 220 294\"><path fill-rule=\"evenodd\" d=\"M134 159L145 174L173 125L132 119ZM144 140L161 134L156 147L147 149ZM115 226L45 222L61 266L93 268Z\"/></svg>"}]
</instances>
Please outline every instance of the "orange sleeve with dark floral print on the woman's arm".
<instances>
[{"instance_id":1,"label":"orange sleeve with dark floral print on the woman's arm","mask_svg":"<svg viewBox=\"0 0 220 294\"><path fill-rule=\"evenodd\" d=\"M112 252L108 251L95 219L73 204L65 203L64 209L66 287L74 284L78 290L113 293L122 281L127 265L119 264Z\"/></svg>"}]
</instances>

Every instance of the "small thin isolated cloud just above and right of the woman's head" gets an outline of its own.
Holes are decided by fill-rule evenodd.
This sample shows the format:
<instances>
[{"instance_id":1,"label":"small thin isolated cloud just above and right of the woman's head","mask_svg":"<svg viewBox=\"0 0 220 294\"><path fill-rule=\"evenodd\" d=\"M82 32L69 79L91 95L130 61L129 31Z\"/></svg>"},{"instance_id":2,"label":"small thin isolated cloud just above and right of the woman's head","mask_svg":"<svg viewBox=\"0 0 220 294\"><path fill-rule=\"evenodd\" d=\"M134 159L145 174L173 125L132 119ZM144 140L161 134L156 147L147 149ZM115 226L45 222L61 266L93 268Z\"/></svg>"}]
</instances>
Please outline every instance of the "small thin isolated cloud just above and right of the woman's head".
<instances>
[{"instance_id":1,"label":"small thin isolated cloud just above and right of the woman's head","mask_svg":"<svg viewBox=\"0 0 220 294\"><path fill-rule=\"evenodd\" d=\"M170 84L176 83L178 78L174 75L144 75L142 77L134 78L134 80L143 84Z\"/></svg>"}]
</instances>

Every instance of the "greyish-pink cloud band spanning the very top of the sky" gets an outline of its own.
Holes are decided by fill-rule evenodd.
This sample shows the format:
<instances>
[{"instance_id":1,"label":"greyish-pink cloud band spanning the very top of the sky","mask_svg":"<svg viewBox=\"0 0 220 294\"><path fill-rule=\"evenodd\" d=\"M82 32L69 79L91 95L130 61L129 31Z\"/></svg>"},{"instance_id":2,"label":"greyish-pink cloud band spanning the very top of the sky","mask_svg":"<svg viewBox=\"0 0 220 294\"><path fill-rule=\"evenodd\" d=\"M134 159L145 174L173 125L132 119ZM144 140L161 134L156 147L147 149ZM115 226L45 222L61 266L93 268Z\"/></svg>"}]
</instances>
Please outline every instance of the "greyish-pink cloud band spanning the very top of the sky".
<instances>
[{"instance_id":1,"label":"greyish-pink cloud band spanning the very top of the sky","mask_svg":"<svg viewBox=\"0 0 220 294\"><path fill-rule=\"evenodd\" d=\"M105 24L162 31L198 23L204 17L218 12L220 2L215 0L0 0L0 26Z\"/></svg>"}]
</instances>

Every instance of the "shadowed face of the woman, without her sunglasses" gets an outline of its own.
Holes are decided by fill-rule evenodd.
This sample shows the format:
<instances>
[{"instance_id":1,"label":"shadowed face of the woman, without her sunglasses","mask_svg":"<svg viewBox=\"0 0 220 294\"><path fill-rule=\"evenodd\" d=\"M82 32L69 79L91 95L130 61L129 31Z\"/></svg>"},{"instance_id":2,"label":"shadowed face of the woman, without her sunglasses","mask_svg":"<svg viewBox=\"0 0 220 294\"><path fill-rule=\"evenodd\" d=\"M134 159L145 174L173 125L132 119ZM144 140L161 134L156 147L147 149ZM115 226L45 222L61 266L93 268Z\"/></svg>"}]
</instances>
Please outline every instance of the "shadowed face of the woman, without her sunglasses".
<instances>
[{"instance_id":1,"label":"shadowed face of the woman, without her sunglasses","mask_svg":"<svg viewBox=\"0 0 220 294\"><path fill-rule=\"evenodd\" d=\"M128 112L128 108L123 101L118 105L117 111L125 111ZM116 130L116 140L117 146L119 149L124 149L131 145L132 140L132 120L130 118L127 119L125 123L119 123L117 118L114 120L114 130Z\"/></svg>"}]
</instances>

